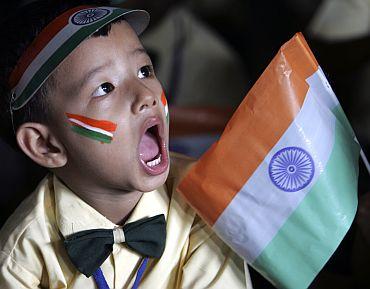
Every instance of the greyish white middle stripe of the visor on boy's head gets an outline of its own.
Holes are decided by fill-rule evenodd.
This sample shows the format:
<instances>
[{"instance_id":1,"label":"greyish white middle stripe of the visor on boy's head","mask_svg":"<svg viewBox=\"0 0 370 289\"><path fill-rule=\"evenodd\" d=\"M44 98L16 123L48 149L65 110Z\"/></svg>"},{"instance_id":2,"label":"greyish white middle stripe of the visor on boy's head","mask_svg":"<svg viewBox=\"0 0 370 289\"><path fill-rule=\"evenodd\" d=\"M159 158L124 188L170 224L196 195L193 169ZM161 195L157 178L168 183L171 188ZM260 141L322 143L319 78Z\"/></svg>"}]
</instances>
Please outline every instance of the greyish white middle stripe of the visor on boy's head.
<instances>
[{"instance_id":1,"label":"greyish white middle stripe of the visor on boy's head","mask_svg":"<svg viewBox=\"0 0 370 289\"><path fill-rule=\"evenodd\" d=\"M111 7L99 7L99 8L108 9L111 12L114 10ZM108 14L105 17L108 17L110 14ZM19 80L15 88L15 93L17 97L19 97L23 93L24 89L27 87L32 77L41 68L41 66L51 57L51 55L53 55L55 51L57 51L62 46L63 43L65 43L72 35L74 35L77 31L79 31L83 27L86 26L74 25L69 21L69 23L51 39L51 41L40 51L40 53L35 57L35 59L31 62L26 71L23 73L21 79Z\"/></svg>"}]
</instances>

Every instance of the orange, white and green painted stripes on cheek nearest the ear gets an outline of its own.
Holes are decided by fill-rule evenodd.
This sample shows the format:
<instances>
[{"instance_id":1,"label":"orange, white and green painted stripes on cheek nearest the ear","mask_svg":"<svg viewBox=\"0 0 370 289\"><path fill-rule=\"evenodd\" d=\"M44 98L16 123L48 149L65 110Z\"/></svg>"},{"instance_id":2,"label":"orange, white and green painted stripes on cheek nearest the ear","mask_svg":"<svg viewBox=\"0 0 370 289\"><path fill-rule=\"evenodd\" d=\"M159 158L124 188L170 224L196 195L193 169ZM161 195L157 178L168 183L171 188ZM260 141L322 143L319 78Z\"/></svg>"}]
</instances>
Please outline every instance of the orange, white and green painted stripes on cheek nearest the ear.
<instances>
[{"instance_id":1,"label":"orange, white and green painted stripes on cheek nearest the ear","mask_svg":"<svg viewBox=\"0 0 370 289\"><path fill-rule=\"evenodd\" d=\"M72 130L82 136L111 143L117 125L107 120L96 120L77 114L66 113Z\"/></svg>"}]
</instances>

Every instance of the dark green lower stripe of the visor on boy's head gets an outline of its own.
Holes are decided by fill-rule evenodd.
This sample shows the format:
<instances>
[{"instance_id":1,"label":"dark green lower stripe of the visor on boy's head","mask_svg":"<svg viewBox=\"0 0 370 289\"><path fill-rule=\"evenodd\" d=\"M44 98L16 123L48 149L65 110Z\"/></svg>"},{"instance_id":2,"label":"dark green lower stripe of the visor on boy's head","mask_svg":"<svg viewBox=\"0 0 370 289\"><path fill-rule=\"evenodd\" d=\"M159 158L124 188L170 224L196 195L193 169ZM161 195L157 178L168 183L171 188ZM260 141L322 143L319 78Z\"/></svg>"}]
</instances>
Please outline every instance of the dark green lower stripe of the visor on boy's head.
<instances>
[{"instance_id":1,"label":"dark green lower stripe of the visor on boy's head","mask_svg":"<svg viewBox=\"0 0 370 289\"><path fill-rule=\"evenodd\" d=\"M97 21L86 27L82 27L75 34L73 34L66 42L64 42L53 55L40 67L34 74L31 81L27 84L22 94L14 101L13 109L19 109L25 104L32 95L40 88L46 81L48 76L55 70L55 68L86 38L95 33L104 25L117 19L119 16L127 12L123 9L115 9L108 17Z\"/></svg>"}]
</instances>

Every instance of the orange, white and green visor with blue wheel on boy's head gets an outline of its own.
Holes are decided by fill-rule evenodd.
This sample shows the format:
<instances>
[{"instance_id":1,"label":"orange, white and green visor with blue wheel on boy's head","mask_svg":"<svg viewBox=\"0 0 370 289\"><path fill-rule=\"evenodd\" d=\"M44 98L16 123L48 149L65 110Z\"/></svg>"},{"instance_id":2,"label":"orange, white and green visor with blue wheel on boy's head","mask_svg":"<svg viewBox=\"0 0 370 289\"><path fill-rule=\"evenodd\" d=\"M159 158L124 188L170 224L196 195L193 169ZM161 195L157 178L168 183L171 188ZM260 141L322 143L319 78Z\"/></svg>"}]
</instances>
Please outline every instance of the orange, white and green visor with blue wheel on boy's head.
<instances>
[{"instance_id":1,"label":"orange, white and green visor with blue wheel on boy's head","mask_svg":"<svg viewBox=\"0 0 370 289\"><path fill-rule=\"evenodd\" d=\"M149 14L143 10L92 6L72 8L50 22L26 49L10 74L11 109L18 110L26 105L83 40L121 17L137 34L149 23Z\"/></svg>"}]
</instances>

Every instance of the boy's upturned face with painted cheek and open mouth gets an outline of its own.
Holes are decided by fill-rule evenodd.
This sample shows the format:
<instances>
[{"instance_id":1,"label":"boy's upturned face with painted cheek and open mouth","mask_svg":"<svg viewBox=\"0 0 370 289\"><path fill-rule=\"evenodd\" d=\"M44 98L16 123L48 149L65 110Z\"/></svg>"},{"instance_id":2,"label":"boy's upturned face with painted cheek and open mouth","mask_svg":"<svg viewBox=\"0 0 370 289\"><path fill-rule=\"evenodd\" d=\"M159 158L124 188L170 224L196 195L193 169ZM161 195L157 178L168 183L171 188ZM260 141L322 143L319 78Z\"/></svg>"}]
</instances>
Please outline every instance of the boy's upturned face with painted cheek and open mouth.
<instances>
[{"instance_id":1,"label":"boy's upturned face with painted cheek and open mouth","mask_svg":"<svg viewBox=\"0 0 370 289\"><path fill-rule=\"evenodd\" d=\"M151 191L165 182L168 123L162 87L126 21L113 24L108 36L85 40L55 78L50 128L66 150L67 164L57 171L64 182L77 191L117 193ZM97 140L95 132L73 122L78 117L95 129L111 127L113 137Z\"/></svg>"}]
</instances>

